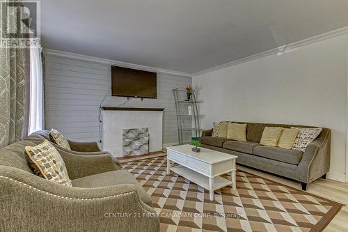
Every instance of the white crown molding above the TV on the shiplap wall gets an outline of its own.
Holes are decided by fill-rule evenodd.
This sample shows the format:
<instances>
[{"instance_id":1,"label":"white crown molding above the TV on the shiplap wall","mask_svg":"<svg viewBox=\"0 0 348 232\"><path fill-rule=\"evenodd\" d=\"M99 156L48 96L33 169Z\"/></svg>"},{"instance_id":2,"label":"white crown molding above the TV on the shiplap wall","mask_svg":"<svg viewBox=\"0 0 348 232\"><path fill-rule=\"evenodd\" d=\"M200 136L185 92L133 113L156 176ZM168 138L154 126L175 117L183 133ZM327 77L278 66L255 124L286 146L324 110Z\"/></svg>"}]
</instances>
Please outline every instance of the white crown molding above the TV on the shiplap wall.
<instances>
[{"instance_id":1,"label":"white crown molding above the TV on the shiplap wall","mask_svg":"<svg viewBox=\"0 0 348 232\"><path fill-rule=\"evenodd\" d=\"M167 70L167 69L163 69L163 68L154 68L154 67L149 67L149 66L145 66L145 65L137 65L135 63L113 61L110 59L103 59L103 58L94 57L94 56L86 56L86 55L76 54L76 53L72 53L72 52L63 52L63 51L58 51L58 50L54 50L54 49L43 49L43 52L47 56L58 56L58 57L63 57L63 58L68 58L68 59L77 59L79 61L102 63L102 64L106 64L106 65L117 65L117 66L124 67L124 68L134 68L137 70L145 70L145 71L150 71L150 72L161 72L161 73L167 73L167 74L177 75L177 76L192 77L192 74L187 73L187 72L177 72L174 70Z\"/></svg>"}]
</instances>

